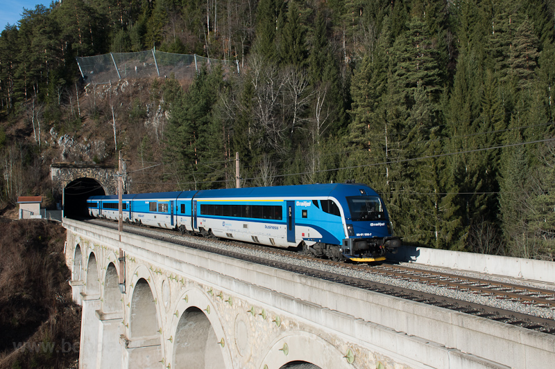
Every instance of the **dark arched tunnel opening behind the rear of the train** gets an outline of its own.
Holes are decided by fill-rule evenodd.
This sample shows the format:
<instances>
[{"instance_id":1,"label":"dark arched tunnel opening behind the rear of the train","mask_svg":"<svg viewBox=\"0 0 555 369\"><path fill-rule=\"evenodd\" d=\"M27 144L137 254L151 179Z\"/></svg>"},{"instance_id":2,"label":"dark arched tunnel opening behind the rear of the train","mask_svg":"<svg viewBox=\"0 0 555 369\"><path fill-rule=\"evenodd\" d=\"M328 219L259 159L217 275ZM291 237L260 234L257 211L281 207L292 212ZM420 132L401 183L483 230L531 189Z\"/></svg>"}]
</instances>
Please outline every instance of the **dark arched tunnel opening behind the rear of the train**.
<instances>
[{"instance_id":1,"label":"dark arched tunnel opening behind the rear of the train","mask_svg":"<svg viewBox=\"0 0 555 369\"><path fill-rule=\"evenodd\" d=\"M64 188L64 216L73 219L88 217L87 199L95 195L106 195L95 179L79 178L68 183Z\"/></svg>"}]
</instances>

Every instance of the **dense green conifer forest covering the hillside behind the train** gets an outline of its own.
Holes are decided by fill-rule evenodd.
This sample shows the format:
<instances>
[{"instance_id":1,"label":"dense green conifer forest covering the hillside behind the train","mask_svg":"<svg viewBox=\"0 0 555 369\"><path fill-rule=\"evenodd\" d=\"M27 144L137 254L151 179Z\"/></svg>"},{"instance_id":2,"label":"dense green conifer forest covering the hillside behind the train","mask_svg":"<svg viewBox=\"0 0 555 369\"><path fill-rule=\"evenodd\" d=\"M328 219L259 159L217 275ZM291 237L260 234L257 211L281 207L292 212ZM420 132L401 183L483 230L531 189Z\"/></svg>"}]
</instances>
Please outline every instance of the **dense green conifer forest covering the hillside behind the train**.
<instances>
[{"instance_id":1,"label":"dense green conifer forest covering the hillside behind the train","mask_svg":"<svg viewBox=\"0 0 555 369\"><path fill-rule=\"evenodd\" d=\"M152 48L240 72L79 100L76 57ZM554 260L554 93L555 0L63 0L1 32L2 201L12 156L47 168L41 135L113 119L99 161L135 191L234 187L239 152L241 186L368 184L404 244ZM39 138L9 134L36 106Z\"/></svg>"}]
</instances>

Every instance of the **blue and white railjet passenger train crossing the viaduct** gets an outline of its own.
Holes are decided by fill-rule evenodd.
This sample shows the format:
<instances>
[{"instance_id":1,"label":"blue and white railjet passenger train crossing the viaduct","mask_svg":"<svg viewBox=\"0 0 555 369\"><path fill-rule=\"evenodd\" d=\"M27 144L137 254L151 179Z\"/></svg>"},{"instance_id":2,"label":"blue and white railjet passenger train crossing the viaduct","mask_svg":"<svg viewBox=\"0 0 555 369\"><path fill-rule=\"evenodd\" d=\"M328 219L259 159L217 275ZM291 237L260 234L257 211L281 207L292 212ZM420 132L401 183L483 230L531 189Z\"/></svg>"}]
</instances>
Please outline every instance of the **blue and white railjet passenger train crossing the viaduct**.
<instances>
[{"instance_id":1,"label":"blue and white railjet passenger train crossing the viaduct","mask_svg":"<svg viewBox=\"0 0 555 369\"><path fill-rule=\"evenodd\" d=\"M88 214L119 219L117 195L87 199ZM382 198L360 183L122 195L123 221L293 248L335 261L385 260L401 245Z\"/></svg>"}]
</instances>

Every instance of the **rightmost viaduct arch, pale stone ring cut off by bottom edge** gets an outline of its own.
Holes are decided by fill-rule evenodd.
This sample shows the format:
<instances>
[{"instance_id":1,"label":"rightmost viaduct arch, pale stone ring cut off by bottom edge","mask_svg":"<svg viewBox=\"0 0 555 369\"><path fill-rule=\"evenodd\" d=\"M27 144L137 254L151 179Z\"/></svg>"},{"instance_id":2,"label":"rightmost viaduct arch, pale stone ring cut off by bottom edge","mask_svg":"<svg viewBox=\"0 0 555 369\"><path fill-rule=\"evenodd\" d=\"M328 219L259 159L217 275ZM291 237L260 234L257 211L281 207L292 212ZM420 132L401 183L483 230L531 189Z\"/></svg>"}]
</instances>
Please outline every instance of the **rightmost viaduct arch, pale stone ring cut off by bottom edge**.
<instances>
[{"instance_id":1,"label":"rightmost viaduct arch, pale stone ring cut off by bottom edge","mask_svg":"<svg viewBox=\"0 0 555 369\"><path fill-rule=\"evenodd\" d=\"M268 368L356 368L345 358L347 351L348 348L345 348L345 352L341 352L332 343L316 334L289 331L273 341L258 367L267 365Z\"/></svg>"}]
</instances>

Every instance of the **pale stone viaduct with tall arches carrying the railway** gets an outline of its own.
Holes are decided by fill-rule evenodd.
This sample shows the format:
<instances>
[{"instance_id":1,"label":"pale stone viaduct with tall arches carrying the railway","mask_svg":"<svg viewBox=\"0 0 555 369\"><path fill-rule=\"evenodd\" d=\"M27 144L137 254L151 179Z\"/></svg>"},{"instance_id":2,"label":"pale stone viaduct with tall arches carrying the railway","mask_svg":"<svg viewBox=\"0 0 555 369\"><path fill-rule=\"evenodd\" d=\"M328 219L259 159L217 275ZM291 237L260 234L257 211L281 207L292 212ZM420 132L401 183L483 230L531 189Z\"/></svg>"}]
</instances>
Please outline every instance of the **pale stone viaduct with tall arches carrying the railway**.
<instances>
[{"instance_id":1,"label":"pale stone viaduct with tall arches carrying the railway","mask_svg":"<svg viewBox=\"0 0 555 369\"><path fill-rule=\"evenodd\" d=\"M547 334L130 233L120 240L116 230L72 219L64 226L70 285L83 305L80 368L555 362L555 339Z\"/></svg>"}]
</instances>

